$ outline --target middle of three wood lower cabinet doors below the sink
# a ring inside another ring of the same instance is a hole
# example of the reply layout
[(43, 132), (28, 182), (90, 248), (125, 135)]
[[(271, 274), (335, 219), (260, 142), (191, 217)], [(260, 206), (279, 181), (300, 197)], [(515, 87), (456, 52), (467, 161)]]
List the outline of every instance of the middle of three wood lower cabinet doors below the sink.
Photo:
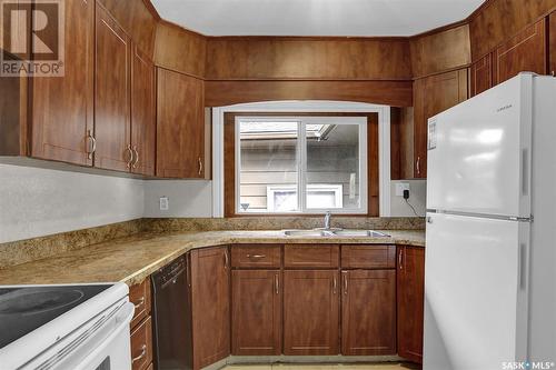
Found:
[(284, 354), (338, 354), (337, 270), (284, 271)]

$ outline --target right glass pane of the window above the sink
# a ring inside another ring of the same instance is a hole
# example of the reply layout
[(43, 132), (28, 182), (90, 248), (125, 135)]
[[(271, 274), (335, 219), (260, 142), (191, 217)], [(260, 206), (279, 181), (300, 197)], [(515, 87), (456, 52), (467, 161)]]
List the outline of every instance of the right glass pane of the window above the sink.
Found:
[(307, 208), (359, 208), (359, 126), (307, 124), (306, 137)]

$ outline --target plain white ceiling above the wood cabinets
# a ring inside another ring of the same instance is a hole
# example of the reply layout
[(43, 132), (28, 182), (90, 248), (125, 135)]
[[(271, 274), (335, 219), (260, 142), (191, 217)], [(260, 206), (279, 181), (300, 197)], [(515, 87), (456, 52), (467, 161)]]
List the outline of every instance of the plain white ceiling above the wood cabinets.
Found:
[(484, 0), (151, 0), (207, 36), (413, 36), (467, 18)]

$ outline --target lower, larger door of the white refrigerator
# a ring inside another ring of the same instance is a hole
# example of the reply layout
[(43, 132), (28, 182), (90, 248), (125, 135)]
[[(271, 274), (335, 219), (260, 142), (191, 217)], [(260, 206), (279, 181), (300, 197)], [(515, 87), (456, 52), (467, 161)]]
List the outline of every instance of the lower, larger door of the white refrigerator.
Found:
[(427, 214), (424, 369), (492, 370), (526, 359), (528, 228)]

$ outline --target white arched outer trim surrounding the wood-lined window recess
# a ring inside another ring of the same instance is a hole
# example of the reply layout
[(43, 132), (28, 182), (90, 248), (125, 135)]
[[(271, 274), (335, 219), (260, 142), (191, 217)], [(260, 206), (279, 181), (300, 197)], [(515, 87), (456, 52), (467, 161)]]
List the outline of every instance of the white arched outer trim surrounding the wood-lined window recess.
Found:
[(379, 209), (390, 216), (390, 107), (345, 101), (271, 101), (212, 108), (212, 217), (224, 217), (224, 114), (228, 112), (378, 113)]

